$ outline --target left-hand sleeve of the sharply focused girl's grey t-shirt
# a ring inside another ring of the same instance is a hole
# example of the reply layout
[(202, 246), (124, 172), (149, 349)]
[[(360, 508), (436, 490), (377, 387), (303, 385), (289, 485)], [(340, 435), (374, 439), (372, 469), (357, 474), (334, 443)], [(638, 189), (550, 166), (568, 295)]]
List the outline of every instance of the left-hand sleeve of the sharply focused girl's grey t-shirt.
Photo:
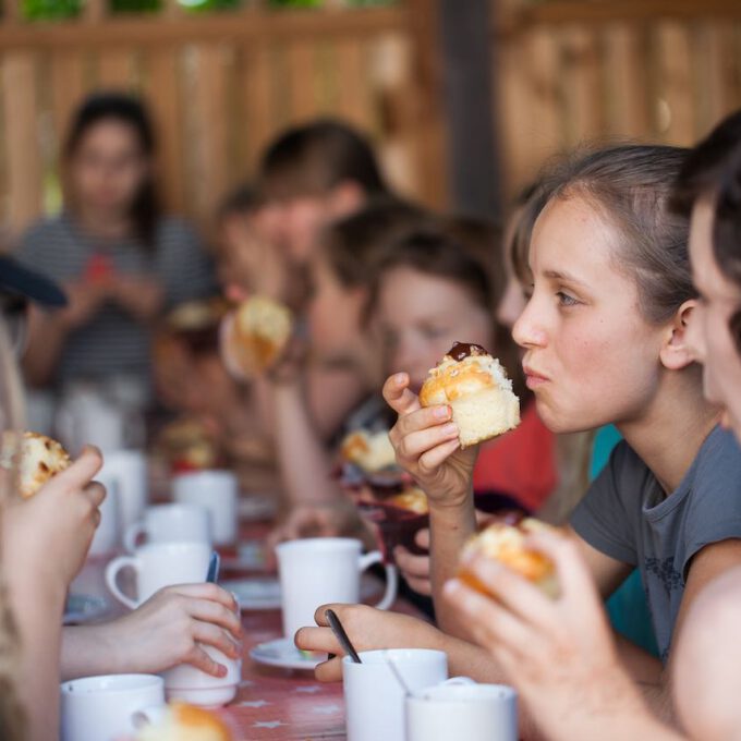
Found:
[[(634, 467), (634, 453), (627, 442), (619, 442), (609, 462), (594, 479), (571, 515), (571, 526), (593, 548), (622, 563), (636, 564), (637, 551), (634, 507), (627, 507), (628, 481)], [(639, 486), (636, 482), (636, 486)], [(640, 499), (632, 491), (632, 500)]]

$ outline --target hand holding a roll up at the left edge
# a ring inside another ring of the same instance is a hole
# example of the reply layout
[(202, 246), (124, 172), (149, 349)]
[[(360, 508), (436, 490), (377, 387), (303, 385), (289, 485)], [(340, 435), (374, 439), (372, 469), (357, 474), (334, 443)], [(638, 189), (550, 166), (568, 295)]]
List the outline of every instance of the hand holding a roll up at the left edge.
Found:
[[(100, 522), (106, 489), (93, 483), (102, 465), (97, 448), (85, 448), (69, 469), (31, 499), (10, 497), (2, 519), (2, 548), (13, 583), (66, 591), (85, 562)], [(17, 576), (17, 579), (16, 579)]]

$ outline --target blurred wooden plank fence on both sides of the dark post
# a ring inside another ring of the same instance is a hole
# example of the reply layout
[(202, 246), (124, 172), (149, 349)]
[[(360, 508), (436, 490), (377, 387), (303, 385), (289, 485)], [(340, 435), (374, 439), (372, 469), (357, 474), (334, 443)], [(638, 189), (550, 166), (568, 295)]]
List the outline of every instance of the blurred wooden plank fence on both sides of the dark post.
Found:
[[(465, 0), (462, 0), (465, 1)], [(378, 144), (391, 181), (446, 201), (435, 0), (398, 7), (0, 22), (0, 223), (59, 199), (60, 137), (81, 97), (144, 93), (160, 127), (168, 205), (202, 223), (289, 123), (347, 118)], [(691, 144), (741, 106), (738, 0), (497, 0), (495, 125), (505, 192), (584, 139)]]

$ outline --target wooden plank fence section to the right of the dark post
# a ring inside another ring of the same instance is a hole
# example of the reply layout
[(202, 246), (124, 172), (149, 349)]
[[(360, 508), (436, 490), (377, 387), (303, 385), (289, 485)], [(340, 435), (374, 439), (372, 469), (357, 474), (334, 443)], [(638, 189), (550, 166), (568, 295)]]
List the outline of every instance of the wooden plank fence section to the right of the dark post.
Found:
[(493, 63), (510, 196), (581, 143), (692, 145), (741, 107), (741, 3), (497, 4)]

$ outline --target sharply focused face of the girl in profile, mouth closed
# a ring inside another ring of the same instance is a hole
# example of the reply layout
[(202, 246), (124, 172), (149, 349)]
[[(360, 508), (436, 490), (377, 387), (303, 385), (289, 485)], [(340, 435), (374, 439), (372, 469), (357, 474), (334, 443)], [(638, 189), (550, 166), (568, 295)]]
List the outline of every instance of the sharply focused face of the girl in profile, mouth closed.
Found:
[(667, 328), (642, 317), (637, 287), (616, 269), (617, 240), (578, 197), (551, 201), (533, 231), (533, 295), (512, 333), (556, 433), (640, 420), (656, 394)]

